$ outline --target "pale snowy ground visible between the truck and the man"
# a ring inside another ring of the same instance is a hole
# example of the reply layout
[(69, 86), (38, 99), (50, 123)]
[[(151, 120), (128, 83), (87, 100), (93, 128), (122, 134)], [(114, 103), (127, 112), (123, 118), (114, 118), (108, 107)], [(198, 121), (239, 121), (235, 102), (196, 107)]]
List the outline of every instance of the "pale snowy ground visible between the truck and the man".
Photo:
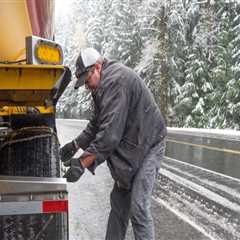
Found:
[[(57, 121), (60, 143), (71, 141), (85, 125), (86, 121)], [(111, 188), (112, 180), (104, 165), (95, 176), (86, 171), (77, 183), (69, 184), (70, 240), (104, 239)]]

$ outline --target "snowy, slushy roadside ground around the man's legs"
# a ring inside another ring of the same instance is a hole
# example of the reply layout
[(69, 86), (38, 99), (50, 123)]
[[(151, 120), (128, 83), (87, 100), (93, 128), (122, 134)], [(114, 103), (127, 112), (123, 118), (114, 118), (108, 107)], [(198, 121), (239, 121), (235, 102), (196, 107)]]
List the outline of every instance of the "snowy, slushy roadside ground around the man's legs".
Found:
[[(84, 121), (58, 120), (59, 140), (77, 136)], [(112, 180), (103, 164), (69, 184), (70, 240), (104, 239)], [(240, 181), (166, 158), (153, 196), (156, 239), (239, 240)], [(129, 227), (127, 240), (134, 239)]]

